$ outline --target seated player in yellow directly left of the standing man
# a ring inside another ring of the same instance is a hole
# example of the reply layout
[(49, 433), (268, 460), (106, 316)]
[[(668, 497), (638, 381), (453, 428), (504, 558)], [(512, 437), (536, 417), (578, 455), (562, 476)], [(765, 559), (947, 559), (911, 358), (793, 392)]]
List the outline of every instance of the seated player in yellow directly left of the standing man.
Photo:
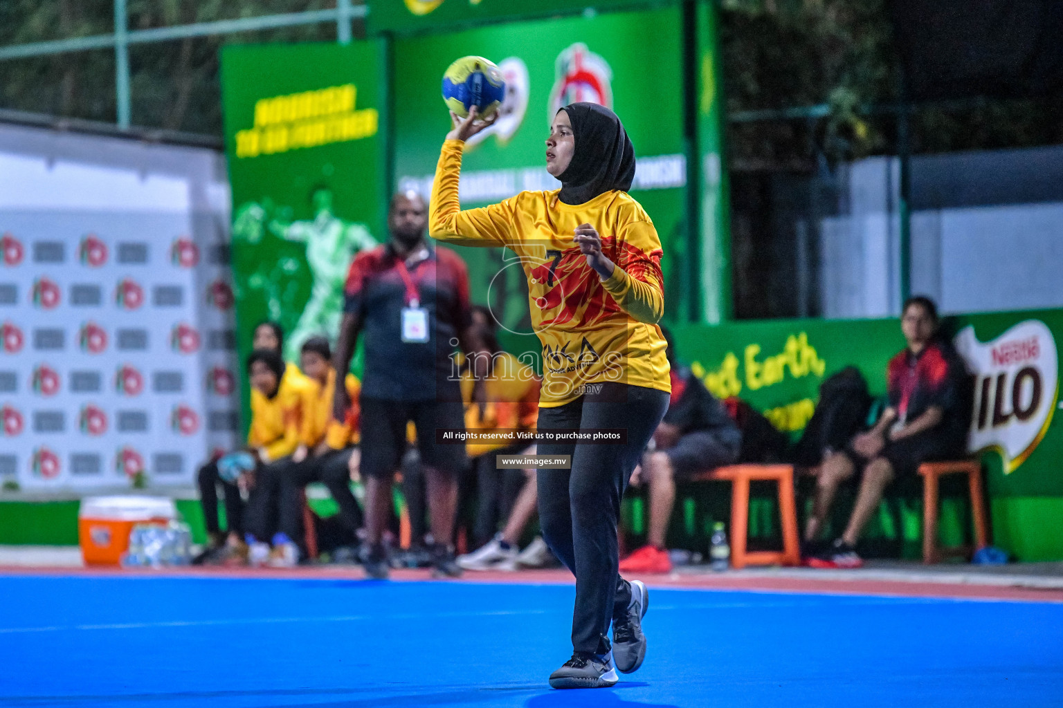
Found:
[(281, 532), (290, 545), (274, 549), (276, 566), (293, 566), (305, 556), (303, 499), (306, 485), (323, 482), (339, 506), (339, 519), (347, 532), (347, 545), (356, 542), (361, 529), (362, 513), (351, 493), (351, 477), (358, 470), (357, 415), (358, 379), (353, 374), (344, 381), (353, 405), (348, 419), (332, 418), (332, 402), (336, 390), (336, 372), (332, 364), (328, 340), (311, 336), (303, 343), (300, 363), (302, 372), (314, 382), (314, 395), (308, 401), (300, 445), (292, 455), (292, 465), (281, 483)]

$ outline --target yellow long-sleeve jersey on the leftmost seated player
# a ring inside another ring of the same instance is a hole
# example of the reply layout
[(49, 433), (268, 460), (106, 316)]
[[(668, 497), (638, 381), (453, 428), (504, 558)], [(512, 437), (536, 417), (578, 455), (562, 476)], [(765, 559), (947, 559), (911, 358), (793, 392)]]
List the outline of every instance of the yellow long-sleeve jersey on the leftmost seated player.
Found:
[(307, 415), (318, 387), (306, 377), (289, 376), (286, 372), (273, 398), (251, 390), (248, 445), (265, 453), (263, 462), (280, 460), (299, 447), (306, 436)]

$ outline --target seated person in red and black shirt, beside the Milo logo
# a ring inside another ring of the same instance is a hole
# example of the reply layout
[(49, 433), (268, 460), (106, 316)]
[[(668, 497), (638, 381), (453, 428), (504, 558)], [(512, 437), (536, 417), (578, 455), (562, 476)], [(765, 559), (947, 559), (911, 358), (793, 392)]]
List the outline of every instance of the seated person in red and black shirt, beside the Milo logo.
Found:
[(812, 516), (805, 526), (813, 542), (830, 512), (838, 486), (860, 476), (856, 505), (844, 533), (809, 558), (816, 568), (859, 568), (855, 546), (882, 499), (887, 485), (914, 476), (919, 464), (960, 457), (966, 447), (967, 416), (962, 402), (966, 372), (960, 358), (938, 334), (938, 308), (927, 297), (905, 303), (900, 329), (908, 346), (890, 360), (890, 404), (875, 426), (844, 450), (829, 453), (816, 477)]

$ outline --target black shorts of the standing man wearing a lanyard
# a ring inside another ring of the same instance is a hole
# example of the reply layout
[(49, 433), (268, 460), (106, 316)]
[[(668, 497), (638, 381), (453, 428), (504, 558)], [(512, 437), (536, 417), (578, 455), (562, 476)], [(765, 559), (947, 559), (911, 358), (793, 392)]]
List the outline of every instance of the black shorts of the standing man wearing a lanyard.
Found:
[(395, 401), (361, 397), (361, 474), (388, 478), (406, 451), (406, 424), (414, 421), (421, 464), (450, 474), (466, 466), (465, 444), (438, 445), (437, 428), (465, 428), (460, 401)]

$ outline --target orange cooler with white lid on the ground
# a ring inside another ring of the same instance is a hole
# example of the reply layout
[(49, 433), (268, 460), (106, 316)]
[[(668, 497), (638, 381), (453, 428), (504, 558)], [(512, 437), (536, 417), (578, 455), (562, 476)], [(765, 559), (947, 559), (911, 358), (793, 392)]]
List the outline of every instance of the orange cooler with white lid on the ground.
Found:
[(118, 566), (137, 523), (167, 523), (178, 518), (172, 499), (162, 497), (85, 497), (78, 512), (78, 538), (85, 565)]

